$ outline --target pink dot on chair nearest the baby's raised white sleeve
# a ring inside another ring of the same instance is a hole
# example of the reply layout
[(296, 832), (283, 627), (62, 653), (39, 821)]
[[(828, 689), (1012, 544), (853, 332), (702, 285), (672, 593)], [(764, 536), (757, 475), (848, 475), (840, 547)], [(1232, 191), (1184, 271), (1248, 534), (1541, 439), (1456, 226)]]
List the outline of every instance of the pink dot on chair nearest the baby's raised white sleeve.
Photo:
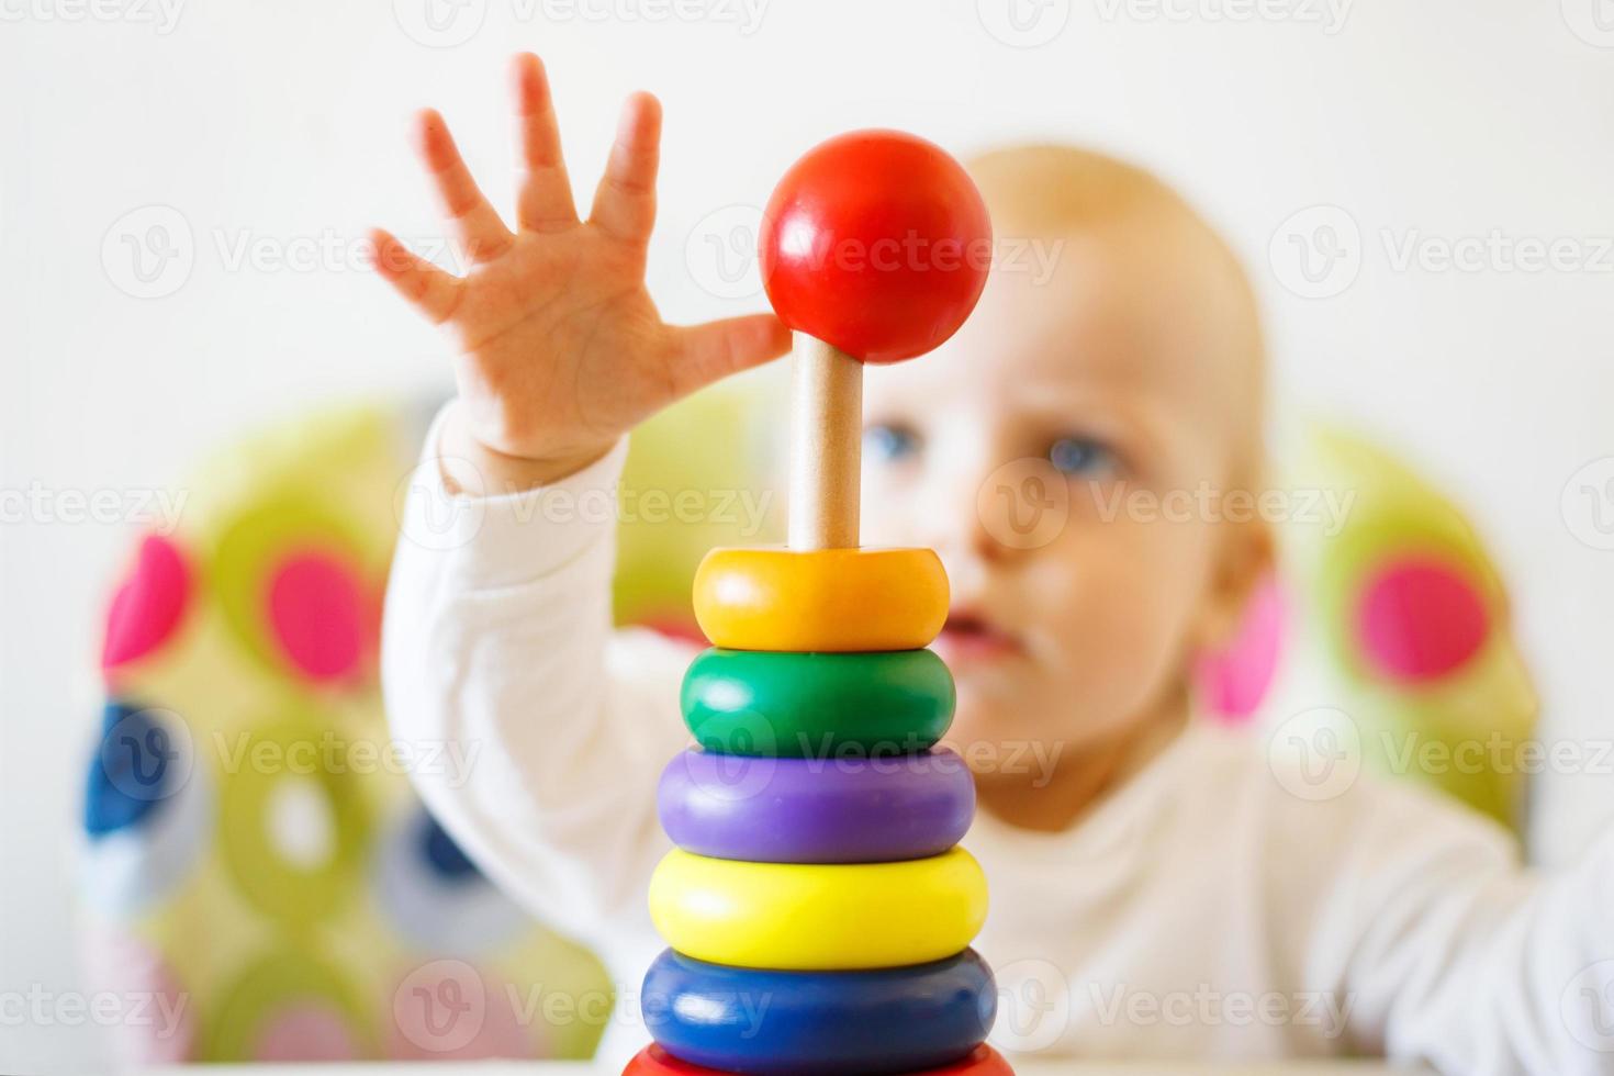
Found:
[(270, 624), (281, 652), (315, 681), (344, 679), (365, 657), (368, 618), (353, 571), (328, 553), (282, 560), (270, 579)]

